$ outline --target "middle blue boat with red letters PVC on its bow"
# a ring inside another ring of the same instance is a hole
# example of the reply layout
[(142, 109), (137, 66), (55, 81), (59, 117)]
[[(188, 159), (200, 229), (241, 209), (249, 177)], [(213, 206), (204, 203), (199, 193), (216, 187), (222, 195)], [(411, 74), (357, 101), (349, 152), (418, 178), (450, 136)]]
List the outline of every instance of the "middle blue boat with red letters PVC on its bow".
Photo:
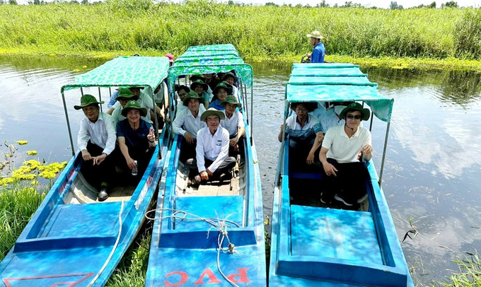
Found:
[[(146, 276), (149, 287), (266, 286), (262, 190), (252, 125), (247, 117), (252, 112), (253, 70), (241, 58), (231, 59), (230, 52), (224, 59), (217, 59), (223, 57), (214, 48), (202, 49), (198, 57), (190, 57), (197, 53), (192, 49), (185, 53), (187, 57), (174, 61), (168, 75), (170, 102), (175, 106), (173, 86), (179, 76), (235, 70), (242, 82), (239, 95), (246, 129), (245, 164), (230, 182), (191, 187), (188, 170), (179, 161), (182, 140), (175, 136), (167, 176), (161, 180), (164, 193), (159, 192), (157, 199)], [(208, 55), (209, 50), (215, 52), (213, 56)]]

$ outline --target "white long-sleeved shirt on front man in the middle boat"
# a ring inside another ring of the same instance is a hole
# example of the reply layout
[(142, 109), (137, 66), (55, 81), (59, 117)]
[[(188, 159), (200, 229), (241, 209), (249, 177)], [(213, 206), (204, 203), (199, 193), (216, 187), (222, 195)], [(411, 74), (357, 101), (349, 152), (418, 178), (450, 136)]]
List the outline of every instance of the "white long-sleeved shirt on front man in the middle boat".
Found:
[(214, 134), (211, 134), (209, 127), (204, 127), (197, 132), (197, 146), (195, 147), (197, 168), (199, 172), (206, 170), (205, 160), (214, 160), (208, 168), (214, 172), (228, 156), (228, 131), (219, 126)]

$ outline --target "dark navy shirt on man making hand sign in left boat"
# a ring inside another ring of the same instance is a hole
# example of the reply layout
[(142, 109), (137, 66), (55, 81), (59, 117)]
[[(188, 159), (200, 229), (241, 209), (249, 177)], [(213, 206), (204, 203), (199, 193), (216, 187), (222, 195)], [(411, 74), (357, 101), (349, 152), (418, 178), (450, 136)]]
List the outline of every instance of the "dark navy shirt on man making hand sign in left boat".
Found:
[(149, 134), (151, 124), (140, 119), (139, 129), (132, 129), (129, 124), (129, 119), (124, 119), (117, 123), (117, 136), (124, 136), (125, 144), (128, 148), (143, 148), (144, 150), (149, 148), (149, 139), (147, 135)]

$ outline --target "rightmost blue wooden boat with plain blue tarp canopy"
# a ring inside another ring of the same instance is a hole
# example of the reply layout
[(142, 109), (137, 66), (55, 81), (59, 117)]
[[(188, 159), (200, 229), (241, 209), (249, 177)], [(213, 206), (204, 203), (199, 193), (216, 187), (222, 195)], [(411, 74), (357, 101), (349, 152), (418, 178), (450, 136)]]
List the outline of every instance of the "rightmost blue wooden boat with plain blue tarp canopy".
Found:
[[(369, 105), (373, 115), (387, 122), (384, 163), (393, 99), (380, 95), (359, 66), (294, 64), (285, 100), (285, 117), (290, 102)], [(367, 168), (368, 211), (323, 207), (320, 172), (289, 170), (289, 144), (283, 141), (274, 187), (270, 286), (414, 286), (380, 186), (382, 172), (378, 177), (372, 160)], [(293, 203), (296, 194), (310, 188), (314, 204)]]

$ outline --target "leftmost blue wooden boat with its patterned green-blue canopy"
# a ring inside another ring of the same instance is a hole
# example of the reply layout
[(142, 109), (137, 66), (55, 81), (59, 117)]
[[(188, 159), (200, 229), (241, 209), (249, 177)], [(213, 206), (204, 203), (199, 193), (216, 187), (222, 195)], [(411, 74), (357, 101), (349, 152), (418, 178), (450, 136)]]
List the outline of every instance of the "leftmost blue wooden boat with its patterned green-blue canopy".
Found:
[[(118, 57), (63, 86), (72, 151), (66, 90), (98, 87), (100, 100), (100, 87), (152, 90), (166, 78), (168, 65), (166, 57)], [(81, 153), (74, 154), (0, 263), (3, 286), (104, 286), (138, 233), (156, 192), (168, 152), (168, 129), (156, 136), (159, 144), (139, 185), (117, 187), (101, 203), (79, 172)]]

